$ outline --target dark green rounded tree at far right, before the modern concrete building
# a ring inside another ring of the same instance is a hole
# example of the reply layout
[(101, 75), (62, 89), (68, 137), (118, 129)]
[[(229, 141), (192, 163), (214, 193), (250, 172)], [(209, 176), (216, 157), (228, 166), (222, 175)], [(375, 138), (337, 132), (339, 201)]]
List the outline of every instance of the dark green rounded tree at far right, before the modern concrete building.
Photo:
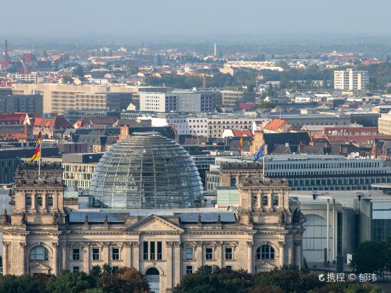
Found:
[(387, 266), (385, 241), (364, 241), (352, 255), (351, 269), (355, 273), (383, 273)]

